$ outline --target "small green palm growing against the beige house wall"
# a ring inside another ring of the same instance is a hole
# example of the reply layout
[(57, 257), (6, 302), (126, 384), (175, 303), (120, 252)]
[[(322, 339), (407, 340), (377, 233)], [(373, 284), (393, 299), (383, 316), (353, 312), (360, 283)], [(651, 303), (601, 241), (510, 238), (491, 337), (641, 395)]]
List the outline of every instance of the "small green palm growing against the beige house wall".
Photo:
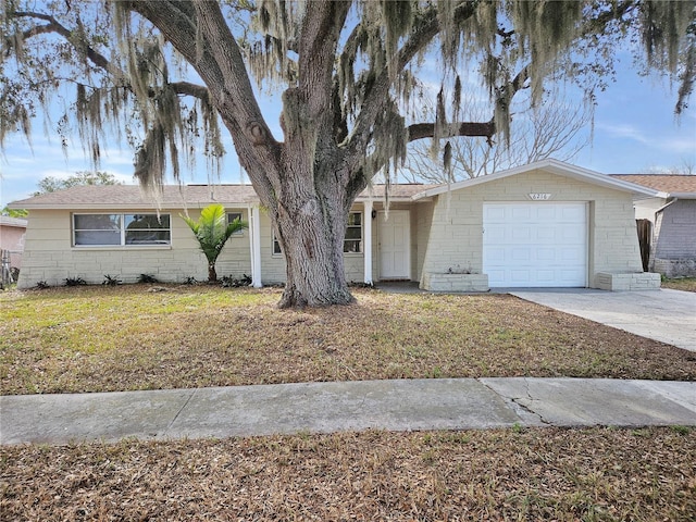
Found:
[(188, 215), (182, 215), (181, 217), (194, 231), (200, 249), (208, 259), (208, 281), (217, 281), (215, 261), (217, 261), (217, 257), (227, 239), (235, 232), (247, 228), (247, 222), (237, 217), (227, 224), (227, 213), (220, 203), (210, 204), (201, 210), (198, 221), (191, 220)]

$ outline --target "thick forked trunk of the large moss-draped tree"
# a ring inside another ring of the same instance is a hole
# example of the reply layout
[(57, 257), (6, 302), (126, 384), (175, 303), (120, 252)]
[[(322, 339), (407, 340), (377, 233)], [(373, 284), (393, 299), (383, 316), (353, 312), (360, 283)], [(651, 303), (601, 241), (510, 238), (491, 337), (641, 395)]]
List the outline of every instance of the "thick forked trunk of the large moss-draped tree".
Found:
[[(229, 129), (287, 261), (282, 308), (353, 301), (343, 249), (348, 212), (362, 188), (350, 170), (359, 167), (357, 158), (364, 148), (339, 150), (332, 105), (336, 48), (350, 4), (316, 2), (307, 8), (297, 42), (298, 79), (283, 95), (284, 141), (276, 141), (264, 122), (217, 2), (176, 2), (175, 9), (161, 9), (157, 1), (133, 4), (194, 64)], [(181, 24), (172, 23), (174, 15), (181, 15)], [(190, 20), (196, 20), (197, 32)], [(364, 133), (370, 132), (368, 126)]]

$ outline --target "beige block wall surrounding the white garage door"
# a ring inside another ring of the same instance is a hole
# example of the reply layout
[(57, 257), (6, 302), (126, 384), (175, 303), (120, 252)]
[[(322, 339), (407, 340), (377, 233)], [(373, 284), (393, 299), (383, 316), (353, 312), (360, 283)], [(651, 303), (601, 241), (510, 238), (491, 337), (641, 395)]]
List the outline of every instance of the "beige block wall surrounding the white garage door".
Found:
[(481, 273), (483, 203), (531, 201), (533, 192), (551, 194), (550, 202), (588, 203), (588, 286), (598, 272), (643, 271), (631, 194), (532, 171), (437, 196), (422, 272), (459, 265)]

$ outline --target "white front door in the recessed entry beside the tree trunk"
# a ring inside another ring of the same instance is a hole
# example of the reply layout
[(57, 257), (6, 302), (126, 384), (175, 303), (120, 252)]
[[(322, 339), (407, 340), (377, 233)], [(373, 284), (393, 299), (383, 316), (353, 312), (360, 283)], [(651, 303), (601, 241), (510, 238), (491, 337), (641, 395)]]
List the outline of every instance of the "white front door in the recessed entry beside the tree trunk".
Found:
[(411, 278), (411, 215), (408, 210), (380, 212), (380, 278)]

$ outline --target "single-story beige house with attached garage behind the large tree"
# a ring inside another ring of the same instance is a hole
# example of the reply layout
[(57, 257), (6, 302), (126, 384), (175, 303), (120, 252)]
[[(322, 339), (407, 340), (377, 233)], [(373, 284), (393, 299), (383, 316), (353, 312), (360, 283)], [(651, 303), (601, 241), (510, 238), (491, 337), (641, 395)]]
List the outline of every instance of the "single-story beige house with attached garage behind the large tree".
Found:
[[(657, 191), (556, 160), (449, 186), (394, 185), (361, 194), (345, 241), (348, 281), (420, 282), (430, 290), (492, 287), (657, 288), (644, 273), (633, 200)], [(249, 228), (232, 237), (221, 275), (282, 283), (285, 261), (249, 185), (166, 186), (159, 202), (137, 186), (85, 186), (14, 202), (29, 210), (18, 286), (203, 281), (207, 263), (181, 214), (223, 203)], [(158, 210), (159, 209), (159, 210)]]

